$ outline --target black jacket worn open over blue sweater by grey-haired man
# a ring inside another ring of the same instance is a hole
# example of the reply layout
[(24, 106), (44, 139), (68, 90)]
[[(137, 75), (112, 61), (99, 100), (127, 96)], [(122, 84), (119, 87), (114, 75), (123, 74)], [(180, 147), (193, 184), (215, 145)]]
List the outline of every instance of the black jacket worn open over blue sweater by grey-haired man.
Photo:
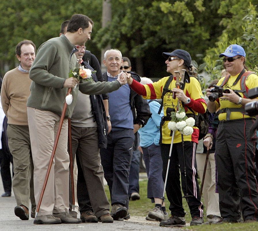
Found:
[[(138, 82), (141, 81), (141, 78), (139, 77), (138, 74), (131, 71), (128, 71), (127, 73), (130, 73), (132, 78), (135, 79), (136, 81)], [(103, 79), (107, 81), (107, 72), (103, 73)], [(147, 124), (147, 121), (151, 117), (149, 104), (147, 103), (146, 100), (143, 99), (142, 96), (140, 96), (134, 90), (132, 90), (132, 88), (130, 88), (130, 104), (131, 104), (134, 124), (142, 124), (143, 126)], [(134, 150), (137, 150), (138, 148), (137, 132), (134, 135), (135, 135)]]

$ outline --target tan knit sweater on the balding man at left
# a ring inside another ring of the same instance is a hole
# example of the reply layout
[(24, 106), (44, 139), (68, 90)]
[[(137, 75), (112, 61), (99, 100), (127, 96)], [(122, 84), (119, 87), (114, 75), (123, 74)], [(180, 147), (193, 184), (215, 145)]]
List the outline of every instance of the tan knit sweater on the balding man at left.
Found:
[(18, 67), (5, 74), (1, 88), (1, 103), (8, 124), (28, 126), (26, 104), (30, 95), (30, 85), (29, 72), (22, 72)]

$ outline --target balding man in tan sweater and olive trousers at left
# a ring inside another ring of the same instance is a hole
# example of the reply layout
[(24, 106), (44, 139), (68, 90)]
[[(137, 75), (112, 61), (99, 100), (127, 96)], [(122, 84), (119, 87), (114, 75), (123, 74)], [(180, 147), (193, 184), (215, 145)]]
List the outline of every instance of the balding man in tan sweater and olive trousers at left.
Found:
[(29, 70), (35, 59), (36, 46), (31, 40), (23, 40), (16, 46), (16, 57), (20, 65), (8, 71), (1, 88), (1, 103), (8, 118), (8, 145), (13, 156), (13, 191), (17, 206), (14, 213), (22, 220), (29, 219), (29, 200), (31, 217), (35, 217), (35, 198), (33, 188), (33, 161), (27, 117), (27, 99), (30, 94), (31, 79)]

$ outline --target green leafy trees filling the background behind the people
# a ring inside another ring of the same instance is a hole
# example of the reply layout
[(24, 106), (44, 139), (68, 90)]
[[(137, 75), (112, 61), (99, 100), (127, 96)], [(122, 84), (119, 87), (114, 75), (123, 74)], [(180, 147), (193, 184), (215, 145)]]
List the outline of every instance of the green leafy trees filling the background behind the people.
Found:
[[(206, 62), (210, 79), (218, 78), (222, 69), (218, 54), (233, 42), (244, 46), (250, 68), (257, 64), (253, 6), (257, 0), (110, 0), (112, 20), (105, 28), (101, 28), (102, 1), (1, 1), (1, 74), (17, 66), (18, 42), (30, 39), (39, 47), (59, 36), (60, 24), (74, 13), (94, 21), (92, 40), (86, 46), (99, 61), (101, 49), (110, 44), (132, 60), (133, 70), (141, 76), (167, 76), (162, 52), (185, 49), (197, 64)], [(202, 79), (203, 87), (207, 79)]]

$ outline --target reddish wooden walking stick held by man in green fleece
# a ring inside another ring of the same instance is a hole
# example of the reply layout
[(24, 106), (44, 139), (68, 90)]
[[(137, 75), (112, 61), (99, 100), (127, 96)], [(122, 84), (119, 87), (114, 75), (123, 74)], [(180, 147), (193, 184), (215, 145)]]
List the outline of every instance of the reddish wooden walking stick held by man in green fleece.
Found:
[[(68, 89), (67, 96), (71, 93), (71, 91), (72, 91), (72, 88), (70, 87)], [(43, 187), (42, 187), (42, 190), (41, 190), (41, 194), (40, 194), (40, 197), (39, 197), (39, 202), (37, 204), (37, 209), (36, 209), (35, 217), (37, 217), (37, 215), (38, 215), (39, 208), (40, 208), (40, 205), (41, 205), (41, 202), (42, 202), (42, 198), (43, 198), (43, 195), (44, 195), (44, 192), (45, 192), (45, 189), (46, 189), (46, 185), (47, 185), (47, 182), (48, 182), (48, 177), (49, 177), (49, 174), (50, 174), (50, 169), (51, 169), (51, 166), (52, 166), (52, 163), (53, 163), (53, 159), (54, 159), (54, 156), (55, 156), (55, 153), (56, 153), (58, 139), (60, 137), (62, 125), (63, 125), (63, 122), (64, 122), (64, 116), (65, 116), (66, 109), (67, 109), (67, 103), (65, 101), (64, 102), (64, 107), (63, 107), (63, 110), (62, 110), (62, 114), (61, 114), (61, 117), (60, 117), (59, 126), (58, 126), (57, 133), (56, 133), (56, 139), (55, 139), (55, 142), (54, 142), (53, 151), (52, 151), (52, 154), (51, 154), (51, 157), (50, 157), (50, 161), (49, 161), (49, 164), (48, 164), (48, 170), (47, 170), (47, 173), (46, 173), (46, 176), (45, 176), (45, 180), (44, 180), (44, 184), (43, 184)]]

